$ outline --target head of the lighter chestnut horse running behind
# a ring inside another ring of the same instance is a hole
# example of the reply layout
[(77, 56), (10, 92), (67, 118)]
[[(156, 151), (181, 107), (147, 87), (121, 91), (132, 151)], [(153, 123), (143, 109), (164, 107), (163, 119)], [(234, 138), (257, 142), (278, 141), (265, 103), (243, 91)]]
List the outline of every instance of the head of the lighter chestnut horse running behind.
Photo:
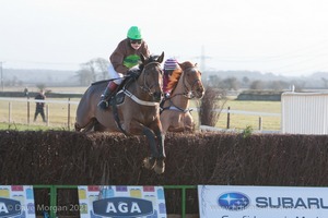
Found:
[(204, 88), (201, 82), (201, 72), (197, 69), (197, 64), (186, 61), (179, 65), (184, 72), (184, 86), (188, 93), (191, 93), (191, 98), (202, 98)]

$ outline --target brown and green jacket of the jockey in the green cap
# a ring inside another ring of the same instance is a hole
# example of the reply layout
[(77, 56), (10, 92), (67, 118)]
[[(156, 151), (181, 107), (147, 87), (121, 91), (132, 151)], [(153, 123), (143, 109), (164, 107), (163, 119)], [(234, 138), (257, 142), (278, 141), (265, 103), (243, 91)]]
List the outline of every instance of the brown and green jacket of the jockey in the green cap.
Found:
[(130, 39), (126, 38), (118, 44), (117, 48), (109, 57), (109, 61), (118, 73), (126, 74), (130, 68), (140, 62), (141, 53), (145, 58), (150, 57), (150, 51), (145, 41), (142, 40), (141, 47), (138, 50), (134, 50), (130, 45)]

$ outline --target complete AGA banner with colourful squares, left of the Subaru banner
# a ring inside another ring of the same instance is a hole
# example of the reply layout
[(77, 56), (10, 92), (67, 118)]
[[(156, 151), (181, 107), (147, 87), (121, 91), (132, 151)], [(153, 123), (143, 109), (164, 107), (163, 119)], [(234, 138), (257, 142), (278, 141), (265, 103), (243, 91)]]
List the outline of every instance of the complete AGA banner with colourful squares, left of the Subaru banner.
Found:
[(79, 186), (81, 218), (166, 218), (162, 186)]

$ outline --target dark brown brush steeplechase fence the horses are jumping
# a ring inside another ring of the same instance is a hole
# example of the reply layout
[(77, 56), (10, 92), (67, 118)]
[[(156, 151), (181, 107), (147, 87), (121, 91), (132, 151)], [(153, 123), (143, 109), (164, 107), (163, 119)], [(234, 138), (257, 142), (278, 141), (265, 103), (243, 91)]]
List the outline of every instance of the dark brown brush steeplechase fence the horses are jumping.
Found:
[(201, 213), (196, 185), (328, 184), (327, 135), (169, 133), (163, 174), (142, 167), (142, 136), (0, 131), (0, 138), (1, 184), (43, 184), (35, 186), (37, 211), (51, 218), (79, 217), (77, 185), (162, 185), (167, 214), (186, 216)]

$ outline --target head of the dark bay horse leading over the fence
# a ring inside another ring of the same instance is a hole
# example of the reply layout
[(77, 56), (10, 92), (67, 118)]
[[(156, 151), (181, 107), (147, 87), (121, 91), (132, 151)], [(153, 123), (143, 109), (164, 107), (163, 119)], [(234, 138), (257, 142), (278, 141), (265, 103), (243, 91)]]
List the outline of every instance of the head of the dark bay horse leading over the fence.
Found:
[(151, 56), (148, 59), (141, 55), (140, 59), (142, 63), (139, 66), (141, 74), (138, 83), (142, 90), (153, 97), (154, 101), (160, 102), (163, 96), (163, 71), (161, 63), (164, 60), (164, 52), (161, 56)]

